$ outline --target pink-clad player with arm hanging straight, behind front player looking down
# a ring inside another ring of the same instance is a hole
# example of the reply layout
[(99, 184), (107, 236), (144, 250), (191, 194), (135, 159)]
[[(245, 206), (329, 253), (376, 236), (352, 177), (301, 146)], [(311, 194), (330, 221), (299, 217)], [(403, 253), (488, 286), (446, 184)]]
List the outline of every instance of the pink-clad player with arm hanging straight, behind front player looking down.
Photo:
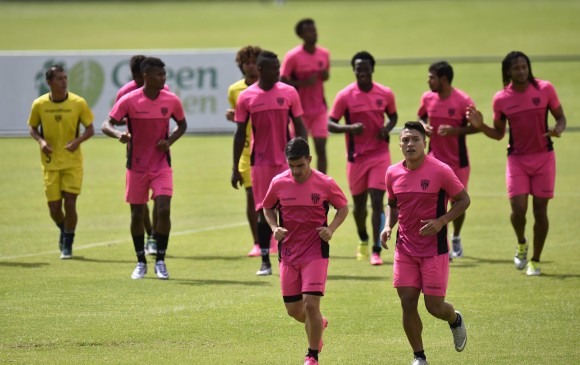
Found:
[(284, 146), (290, 140), (289, 124), (292, 120), (297, 136), (306, 137), (302, 122), (302, 106), (296, 89), (278, 82), (280, 61), (275, 53), (262, 51), (256, 59), (258, 82), (248, 86), (238, 97), (234, 121), (234, 164), (231, 184), (237, 189), (243, 177), (239, 170), (240, 157), (246, 141), (246, 130), (252, 120), (250, 164), (255, 210), (258, 212), (256, 229), (260, 243), (262, 265), (258, 276), (272, 275), (269, 248), (272, 230), (264, 218), (262, 200), (274, 178), (286, 169)]

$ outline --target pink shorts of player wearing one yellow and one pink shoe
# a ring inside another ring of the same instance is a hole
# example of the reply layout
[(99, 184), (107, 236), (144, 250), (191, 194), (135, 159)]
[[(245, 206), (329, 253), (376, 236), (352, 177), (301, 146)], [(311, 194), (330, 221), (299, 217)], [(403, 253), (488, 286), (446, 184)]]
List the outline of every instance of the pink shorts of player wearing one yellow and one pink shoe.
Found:
[(368, 161), (348, 162), (346, 175), (352, 195), (359, 195), (368, 189), (387, 190), (385, 174), (391, 164), (390, 156)]

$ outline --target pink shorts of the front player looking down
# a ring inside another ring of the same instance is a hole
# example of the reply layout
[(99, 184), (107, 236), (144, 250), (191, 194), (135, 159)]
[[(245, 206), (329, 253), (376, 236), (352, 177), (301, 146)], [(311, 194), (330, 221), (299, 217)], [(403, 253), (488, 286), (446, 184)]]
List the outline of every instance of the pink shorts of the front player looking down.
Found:
[(328, 276), (328, 259), (312, 260), (298, 265), (280, 261), (280, 287), (283, 297), (302, 297), (303, 293), (324, 295)]

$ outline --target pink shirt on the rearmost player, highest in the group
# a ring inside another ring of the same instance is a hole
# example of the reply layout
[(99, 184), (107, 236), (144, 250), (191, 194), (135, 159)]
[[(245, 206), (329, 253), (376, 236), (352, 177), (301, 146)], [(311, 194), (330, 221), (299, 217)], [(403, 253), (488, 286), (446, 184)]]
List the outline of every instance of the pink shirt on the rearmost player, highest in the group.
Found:
[(330, 53), (326, 48), (316, 46), (314, 53), (308, 53), (303, 45), (299, 45), (286, 53), (280, 68), (280, 76), (293, 80), (306, 80), (313, 75), (319, 75), (314, 84), (297, 87), (304, 114), (326, 113), (324, 80), (320, 74), (329, 69)]

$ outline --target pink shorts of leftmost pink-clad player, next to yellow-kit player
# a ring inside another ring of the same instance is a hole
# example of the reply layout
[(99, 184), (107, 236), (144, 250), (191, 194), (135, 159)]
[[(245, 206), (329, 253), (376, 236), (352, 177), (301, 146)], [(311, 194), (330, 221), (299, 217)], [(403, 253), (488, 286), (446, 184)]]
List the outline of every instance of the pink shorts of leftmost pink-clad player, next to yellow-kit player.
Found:
[(149, 190), (151, 199), (160, 195), (173, 195), (173, 170), (166, 168), (155, 172), (127, 170), (125, 201), (129, 204), (147, 204)]

